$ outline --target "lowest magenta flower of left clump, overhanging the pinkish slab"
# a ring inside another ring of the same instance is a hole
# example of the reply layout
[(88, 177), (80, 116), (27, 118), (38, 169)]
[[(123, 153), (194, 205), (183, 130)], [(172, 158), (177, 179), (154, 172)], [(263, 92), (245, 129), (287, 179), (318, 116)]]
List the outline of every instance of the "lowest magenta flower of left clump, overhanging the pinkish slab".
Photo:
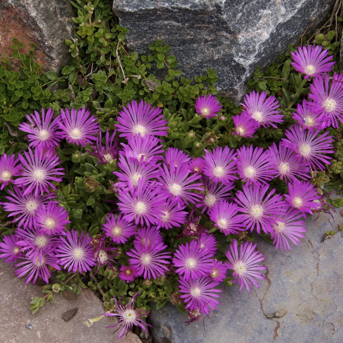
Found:
[(32, 279), (32, 283), (34, 284), (37, 277), (41, 277), (46, 283), (49, 283), (48, 279), (51, 276), (48, 268), (49, 266), (61, 270), (56, 257), (44, 253), (40, 261), (38, 260), (38, 257), (35, 258), (32, 255), (26, 257), (25, 261), (15, 264), (13, 268), (18, 268), (14, 271), (14, 274), (17, 275), (18, 278), (27, 274), (25, 282), (25, 285), (27, 285)]

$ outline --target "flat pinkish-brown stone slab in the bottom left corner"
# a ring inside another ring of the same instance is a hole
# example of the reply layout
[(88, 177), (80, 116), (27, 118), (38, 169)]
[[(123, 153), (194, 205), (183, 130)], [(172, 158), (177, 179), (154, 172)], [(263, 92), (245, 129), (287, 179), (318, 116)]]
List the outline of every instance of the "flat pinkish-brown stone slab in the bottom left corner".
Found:
[[(113, 333), (115, 317), (105, 317), (93, 323), (91, 327), (82, 324), (105, 312), (101, 300), (90, 288), (81, 289), (77, 300), (54, 294), (56, 304), (46, 301), (36, 314), (29, 309), (31, 297), (42, 297), (40, 286), (28, 284), (16, 279), (13, 268), (3, 260), (0, 262), (0, 299), (1, 299), (1, 335), (0, 343), (142, 343), (131, 332), (117, 341), (121, 330)], [(65, 322), (64, 312), (78, 308), (76, 315)], [(110, 318), (114, 318), (111, 321)], [(31, 327), (28, 329), (26, 326)]]

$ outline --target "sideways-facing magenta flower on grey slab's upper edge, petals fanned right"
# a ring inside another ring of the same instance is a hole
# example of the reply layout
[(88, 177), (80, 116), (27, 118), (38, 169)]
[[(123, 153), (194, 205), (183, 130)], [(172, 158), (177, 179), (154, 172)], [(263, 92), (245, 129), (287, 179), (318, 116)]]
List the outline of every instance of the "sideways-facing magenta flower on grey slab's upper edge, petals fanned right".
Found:
[(276, 249), (280, 247), (280, 250), (282, 248), (291, 250), (287, 238), (295, 245), (300, 242), (298, 237), (305, 238), (301, 234), (301, 232), (306, 232), (305, 221), (297, 220), (302, 216), (300, 211), (292, 207), (289, 207), (284, 214), (275, 215), (275, 224), (273, 224), (273, 233), (270, 238), (274, 239), (273, 244)]

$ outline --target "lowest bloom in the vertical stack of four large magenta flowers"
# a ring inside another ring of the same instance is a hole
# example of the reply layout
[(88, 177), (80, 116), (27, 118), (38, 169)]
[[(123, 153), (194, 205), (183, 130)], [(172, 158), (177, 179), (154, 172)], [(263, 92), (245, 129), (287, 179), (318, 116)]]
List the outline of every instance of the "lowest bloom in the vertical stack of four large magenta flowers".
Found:
[(120, 189), (118, 188), (118, 202), (123, 219), (136, 225), (142, 226), (155, 225), (160, 216), (157, 207), (164, 202), (164, 196), (161, 194), (161, 187), (156, 184), (147, 185), (144, 179), (139, 178), (137, 188)]

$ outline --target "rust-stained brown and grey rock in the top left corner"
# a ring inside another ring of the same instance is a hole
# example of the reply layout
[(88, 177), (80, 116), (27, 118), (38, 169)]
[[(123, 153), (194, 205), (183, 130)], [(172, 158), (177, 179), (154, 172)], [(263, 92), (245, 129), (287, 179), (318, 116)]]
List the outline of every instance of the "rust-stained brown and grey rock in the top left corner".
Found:
[(62, 64), (70, 62), (64, 40), (74, 36), (73, 16), (68, 0), (1, 0), (0, 59), (10, 57), (13, 66), (11, 45), (12, 38), (17, 38), (24, 43), (22, 52), (26, 54), (31, 43), (36, 45), (35, 60), (44, 71), (60, 71)]

